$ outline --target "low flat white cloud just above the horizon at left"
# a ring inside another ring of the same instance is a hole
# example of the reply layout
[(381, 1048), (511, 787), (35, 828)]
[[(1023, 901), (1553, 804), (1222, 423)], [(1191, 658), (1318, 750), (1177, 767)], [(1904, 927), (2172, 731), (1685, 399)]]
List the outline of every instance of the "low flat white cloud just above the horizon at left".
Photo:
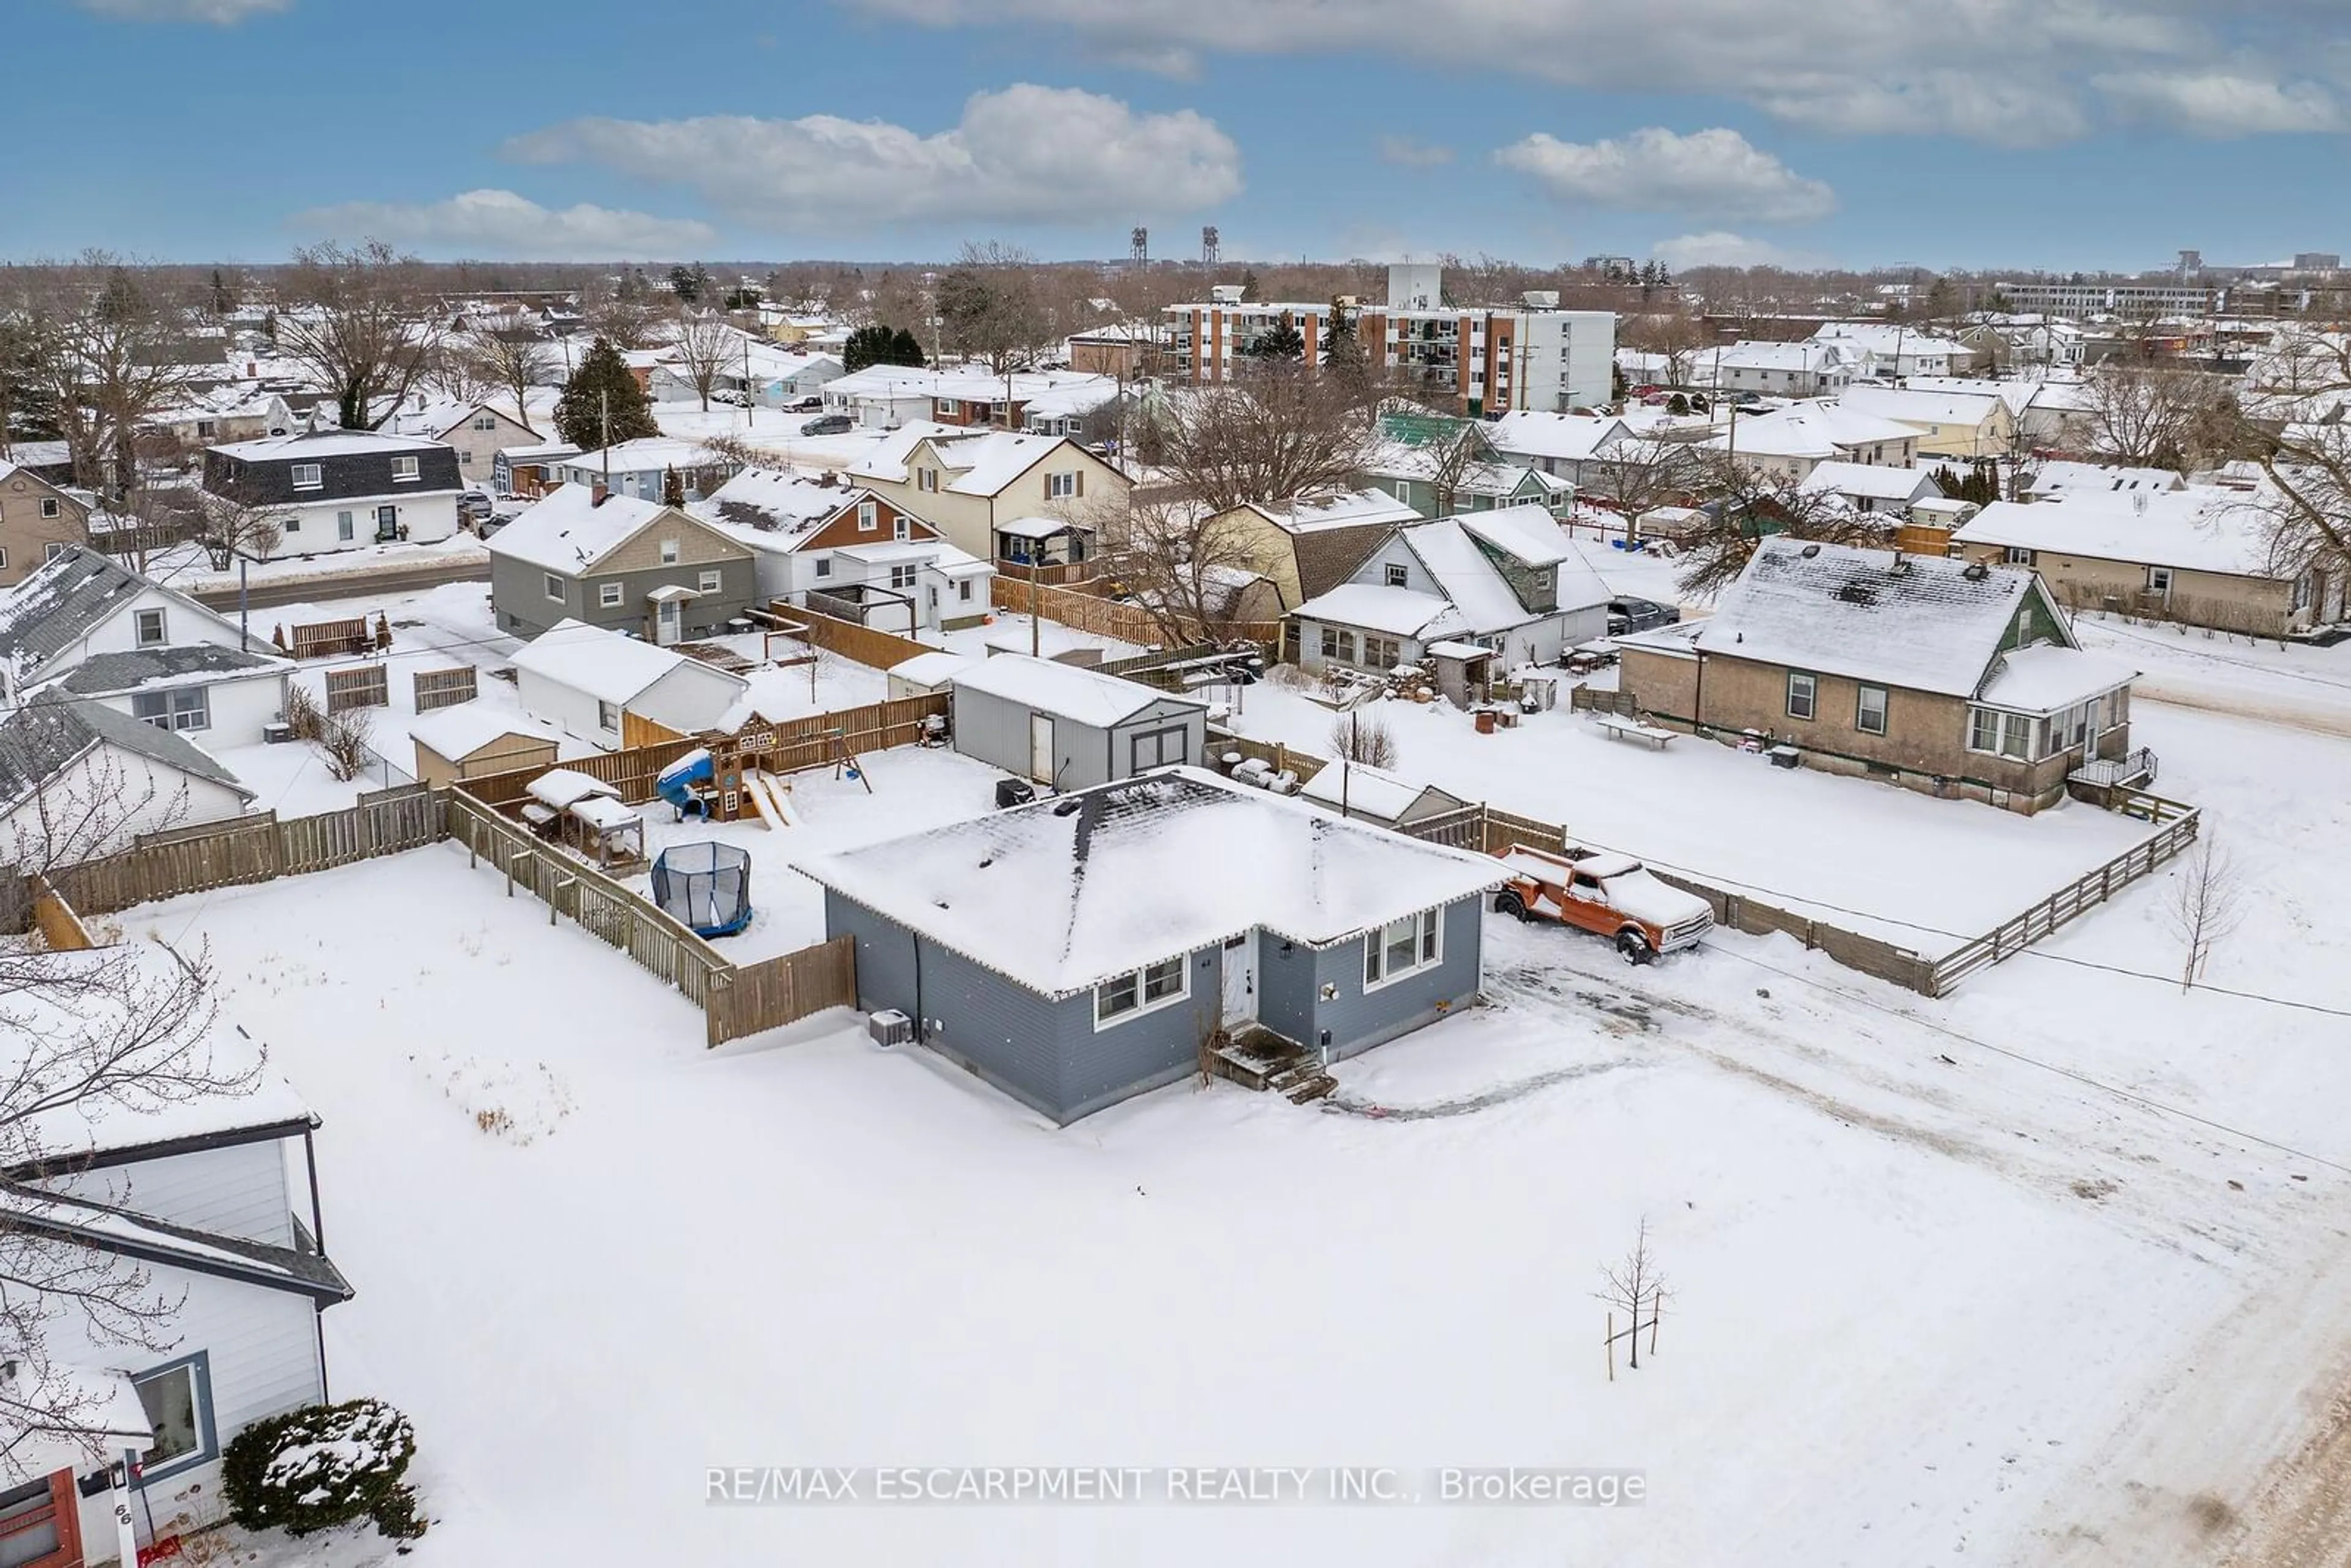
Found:
[(343, 202), (294, 214), (289, 228), (339, 240), (388, 240), (447, 256), (517, 261), (670, 261), (708, 252), (717, 230), (611, 207), (541, 207), (513, 190), (447, 202)]

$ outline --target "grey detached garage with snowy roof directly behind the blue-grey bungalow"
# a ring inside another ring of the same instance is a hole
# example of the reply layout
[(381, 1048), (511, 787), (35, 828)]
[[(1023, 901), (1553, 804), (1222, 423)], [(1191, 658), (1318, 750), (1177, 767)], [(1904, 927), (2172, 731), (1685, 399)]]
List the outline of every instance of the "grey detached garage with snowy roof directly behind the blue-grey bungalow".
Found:
[(1056, 790), (1199, 762), (1208, 708), (1117, 675), (999, 654), (955, 675), (955, 750)]

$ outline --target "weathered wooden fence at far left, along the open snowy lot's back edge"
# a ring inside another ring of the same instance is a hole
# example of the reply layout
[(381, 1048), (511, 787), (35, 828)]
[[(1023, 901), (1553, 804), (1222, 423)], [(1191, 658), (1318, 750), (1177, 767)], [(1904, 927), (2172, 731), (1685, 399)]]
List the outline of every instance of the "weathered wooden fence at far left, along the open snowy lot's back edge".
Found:
[(449, 837), (447, 795), (411, 785), (362, 795), (355, 806), (280, 820), (273, 811), (226, 823), (148, 832), (129, 849), (49, 875), (80, 914), (115, 914), (139, 903), (223, 886), (324, 872)]

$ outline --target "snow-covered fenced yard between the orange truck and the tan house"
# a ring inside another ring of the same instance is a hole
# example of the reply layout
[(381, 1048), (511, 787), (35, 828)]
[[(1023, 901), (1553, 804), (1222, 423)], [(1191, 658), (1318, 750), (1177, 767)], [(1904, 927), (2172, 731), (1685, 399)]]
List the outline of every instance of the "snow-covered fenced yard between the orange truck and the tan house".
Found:
[[(1225, 698), (1223, 691), (1201, 696)], [(1333, 757), (1333, 712), (1262, 682), (1237, 693), (1232, 729)], [(1864, 778), (1775, 769), (1761, 755), (1683, 736), (1667, 750), (1610, 741), (1559, 708), (1474, 733), (1448, 703), (1361, 710), (1396, 736), (1396, 773), (1441, 785), (1681, 870), (1714, 886), (1940, 954), (1982, 936), (2146, 835), (2067, 804), (2024, 818)]]

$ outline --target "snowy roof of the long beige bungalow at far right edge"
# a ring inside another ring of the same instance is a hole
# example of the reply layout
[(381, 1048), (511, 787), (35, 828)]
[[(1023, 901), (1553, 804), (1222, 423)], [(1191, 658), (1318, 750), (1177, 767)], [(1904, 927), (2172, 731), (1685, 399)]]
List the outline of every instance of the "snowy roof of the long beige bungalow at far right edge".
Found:
[(1996, 501), (1951, 534), (1963, 545), (2012, 545), (2135, 567), (2271, 576), (2269, 512), (2236, 491), (2071, 494)]

